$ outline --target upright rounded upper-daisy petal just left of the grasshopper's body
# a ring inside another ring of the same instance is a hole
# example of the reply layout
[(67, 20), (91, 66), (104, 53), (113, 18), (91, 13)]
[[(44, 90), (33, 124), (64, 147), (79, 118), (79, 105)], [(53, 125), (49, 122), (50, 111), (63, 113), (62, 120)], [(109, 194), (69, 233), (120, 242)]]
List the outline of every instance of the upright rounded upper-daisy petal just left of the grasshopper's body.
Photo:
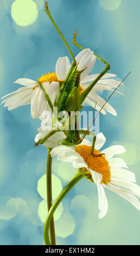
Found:
[(70, 62), (68, 57), (59, 58), (56, 62), (56, 75), (60, 81), (64, 81), (70, 69)]

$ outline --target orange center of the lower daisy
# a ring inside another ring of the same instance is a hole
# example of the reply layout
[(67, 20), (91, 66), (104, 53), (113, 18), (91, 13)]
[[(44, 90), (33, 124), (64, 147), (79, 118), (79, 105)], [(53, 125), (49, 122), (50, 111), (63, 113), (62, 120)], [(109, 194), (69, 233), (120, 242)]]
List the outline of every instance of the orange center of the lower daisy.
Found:
[[(78, 145), (78, 146), (75, 146), (75, 148), (77, 152), (80, 154), (80, 156), (84, 158), (84, 161), (87, 164), (88, 168), (103, 175), (101, 183), (109, 183), (111, 178), (110, 166), (109, 166), (109, 162), (105, 159), (105, 156), (104, 155), (92, 156), (91, 155), (92, 147), (89, 147), (87, 145)], [(93, 154), (99, 155), (100, 151), (97, 149), (94, 149)]]

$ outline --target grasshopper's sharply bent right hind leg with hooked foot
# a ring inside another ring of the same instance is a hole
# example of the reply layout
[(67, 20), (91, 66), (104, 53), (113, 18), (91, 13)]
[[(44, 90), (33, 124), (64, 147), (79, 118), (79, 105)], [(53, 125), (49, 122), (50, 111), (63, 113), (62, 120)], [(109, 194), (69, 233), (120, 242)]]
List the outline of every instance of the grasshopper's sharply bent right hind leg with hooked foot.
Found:
[[(79, 45), (77, 42), (76, 42), (76, 38), (77, 38), (77, 33), (78, 31), (76, 31), (76, 33), (74, 33), (74, 36), (73, 36), (73, 44), (79, 48), (81, 48), (82, 50), (84, 50), (85, 48), (82, 47), (81, 45)], [(94, 53), (93, 53), (94, 54)], [(106, 66), (105, 66), (105, 69), (99, 74), (99, 76), (90, 84), (90, 86), (88, 86), (84, 92), (81, 93), (80, 95), (80, 104), (86, 99), (88, 93), (91, 92), (92, 88), (94, 87), (94, 85), (100, 80), (101, 77), (103, 77), (107, 71), (110, 70), (110, 64), (106, 62), (106, 60), (100, 58), (97, 54), (94, 54), (94, 56), (96, 56), (101, 62), (103, 62)]]

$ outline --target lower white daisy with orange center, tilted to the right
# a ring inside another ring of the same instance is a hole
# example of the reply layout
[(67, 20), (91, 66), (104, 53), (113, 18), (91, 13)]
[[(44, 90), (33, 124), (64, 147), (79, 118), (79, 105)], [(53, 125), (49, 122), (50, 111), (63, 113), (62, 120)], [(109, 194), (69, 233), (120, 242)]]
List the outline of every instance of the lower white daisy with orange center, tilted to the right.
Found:
[(61, 161), (72, 162), (75, 168), (80, 168), (80, 172), (97, 185), (99, 218), (103, 218), (108, 209), (104, 187), (119, 194), (140, 210), (140, 202), (137, 199), (140, 197), (140, 187), (133, 183), (136, 182), (135, 174), (126, 170), (128, 166), (122, 159), (113, 157), (124, 153), (124, 147), (114, 145), (100, 152), (105, 141), (103, 133), (99, 133), (94, 145), (94, 155), (105, 154), (101, 156), (91, 155), (92, 144), (86, 139), (75, 147), (60, 145), (50, 154), (58, 156)]

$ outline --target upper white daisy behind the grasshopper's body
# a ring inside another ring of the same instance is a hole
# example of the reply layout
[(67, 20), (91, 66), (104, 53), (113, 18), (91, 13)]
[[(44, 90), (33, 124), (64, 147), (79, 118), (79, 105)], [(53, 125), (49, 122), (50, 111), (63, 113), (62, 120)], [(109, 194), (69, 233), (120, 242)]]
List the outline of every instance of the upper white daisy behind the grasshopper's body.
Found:
[[(98, 74), (88, 75), (92, 70), (94, 64), (96, 63), (96, 57), (93, 55), (93, 51), (87, 48), (85, 50), (82, 50), (77, 55), (77, 57), (75, 57), (75, 59), (77, 60), (77, 63), (79, 63), (78, 69), (85, 69), (81, 73), (80, 89), (82, 92), (82, 90), (85, 89), (88, 84), (90, 84), (87, 82), (93, 81), (98, 76)], [(65, 80), (70, 66), (71, 64), (68, 57), (59, 58), (56, 62), (55, 72), (42, 75), (42, 77), (39, 78), (39, 81), (42, 83), (44, 89), (49, 95), (53, 105), (56, 95), (58, 94), (60, 89), (60, 83)], [(86, 97), (85, 102), (92, 107), (95, 107), (96, 105), (96, 109), (99, 110), (103, 106), (105, 100), (94, 94), (94, 92), (97, 92), (99, 90), (112, 90), (112, 88), (116, 88), (119, 84), (118, 81), (113, 79), (106, 79), (115, 76), (116, 75), (113, 74), (104, 75), (104, 79), (102, 78), (96, 84), (96, 86), (94, 86), (91, 93)], [(12, 110), (19, 106), (31, 104), (31, 116), (33, 118), (40, 118), (43, 111), (51, 112), (44, 93), (36, 81), (30, 80), (28, 78), (20, 78), (15, 81), (15, 83), (22, 84), (22, 86), (24, 87), (21, 87), (15, 92), (12, 92), (2, 97), (2, 99), (6, 97), (2, 101), (2, 103), (5, 103), (4, 107), (8, 107), (9, 110)], [(97, 104), (95, 102), (97, 102)], [(116, 115), (116, 111), (109, 105), (109, 103), (106, 103), (101, 113), (106, 114), (106, 111), (113, 115)]]

